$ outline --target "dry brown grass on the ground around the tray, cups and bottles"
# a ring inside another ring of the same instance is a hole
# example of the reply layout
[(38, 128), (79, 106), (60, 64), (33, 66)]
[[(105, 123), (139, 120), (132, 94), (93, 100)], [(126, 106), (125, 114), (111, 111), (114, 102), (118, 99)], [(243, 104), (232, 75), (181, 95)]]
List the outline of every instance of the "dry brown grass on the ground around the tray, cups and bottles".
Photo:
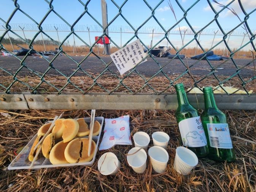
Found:
[[(140, 86), (138, 77), (131, 76), (126, 84), (131, 89)], [(194, 78), (197, 78), (194, 76)], [(200, 78), (200, 77), (198, 77)], [(108, 81), (106, 80), (108, 79)], [(128, 81), (129, 80), (129, 81)], [(61, 84), (62, 78), (56, 78)], [(81, 77), (73, 79), (81, 81)], [(83, 79), (86, 82), (86, 79)], [(186, 87), (191, 85), (189, 77), (180, 79)], [(31, 79), (30, 82), (33, 82)], [(164, 79), (151, 82), (155, 87), (166, 87)], [(35, 82), (36, 83), (36, 82)], [(118, 81), (105, 78), (105, 87), (111, 87)], [(234, 82), (235, 83), (235, 82)], [(210, 79), (204, 82), (211, 84)], [(81, 85), (82, 86), (82, 85)], [(22, 90), (22, 87), (15, 89)], [(72, 90), (73, 91), (73, 90)], [(100, 90), (95, 87), (93, 92)], [(124, 89), (118, 90), (124, 92)], [(148, 89), (144, 90), (145, 92)], [(170, 90), (174, 92), (174, 90)], [(59, 167), (40, 170), (7, 170), (15, 157), (15, 151), (25, 146), (37, 130), (46, 121), (64, 112), (64, 118), (89, 117), (90, 110), (0, 110), (0, 189), (5, 192), (16, 191), (117, 191), (117, 192), (251, 192), (256, 191), (256, 111), (224, 111), (228, 118), (233, 146), (237, 160), (234, 163), (217, 163), (210, 159), (199, 160), (194, 171), (181, 176), (173, 168), (175, 148), (179, 146), (179, 131), (173, 110), (97, 110), (96, 116), (115, 118), (130, 116), (131, 136), (137, 131), (151, 134), (164, 131), (170, 135), (169, 162), (164, 173), (157, 174), (148, 167), (142, 174), (134, 173), (129, 167), (126, 154), (132, 146), (118, 145), (109, 150), (98, 151), (92, 167)], [(202, 111), (200, 111), (202, 112)], [(102, 134), (103, 136), (103, 134)], [(100, 140), (101, 141), (101, 140)], [(134, 146), (134, 144), (133, 144)], [(149, 146), (152, 146), (150, 141)], [(115, 153), (121, 162), (121, 170), (115, 176), (99, 174), (97, 159), (107, 152)]]

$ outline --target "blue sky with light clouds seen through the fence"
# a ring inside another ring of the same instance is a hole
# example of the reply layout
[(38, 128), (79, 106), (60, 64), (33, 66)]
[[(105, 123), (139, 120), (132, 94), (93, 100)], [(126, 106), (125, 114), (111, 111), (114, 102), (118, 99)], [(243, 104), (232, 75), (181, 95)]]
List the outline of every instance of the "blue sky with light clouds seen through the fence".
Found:
[[(83, 3), (86, 3), (87, 1), (81, 0)], [(119, 13), (119, 9), (117, 6), (121, 6), (124, 1), (122, 0), (116, 0), (116, 5), (111, 0), (106, 0), (107, 6), (108, 6), (108, 22), (110, 23), (116, 15)], [(178, 3), (176, 3), (175, 0), (147, 0), (146, 1), (148, 5), (143, 0), (128, 0), (124, 6), (121, 8), (122, 15), (127, 19), (127, 21), (137, 28), (138, 26), (142, 25), (143, 22), (148, 19), (152, 11), (148, 6), (150, 6), (152, 9), (154, 9), (159, 3), (160, 5), (157, 6), (157, 8), (154, 11), (154, 16), (159, 21), (159, 23), (164, 27), (165, 30), (170, 29), (170, 27), (173, 27), (172, 30), (178, 30), (180, 27), (181, 31), (184, 33), (184, 44), (188, 43), (194, 35), (189, 35), (189, 25), (186, 23), (186, 21), (183, 19), (178, 25), (175, 25), (176, 20), (174, 17), (174, 14), (172, 13), (169, 3), (171, 3), (173, 10), (175, 12), (177, 20), (180, 20), (183, 17), (183, 11), (178, 6)], [(193, 3), (196, 1), (194, 0), (179, 0), (178, 1), (180, 5), (183, 7), (184, 10), (188, 10)], [(216, 9), (216, 11), (220, 11), (221, 7), (218, 6), (216, 3), (210, 1), (213, 7)], [(219, 3), (223, 5), (227, 5), (227, 3), (231, 2), (231, 0), (219, 0)], [(256, 9), (256, 0), (241, 0), (243, 7), (246, 11), (246, 13), (250, 13), (254, 9)], [(20, 6), (20, 9), (27, 13), (29, 16), (31, 16), (36, 22), (40, 23), (43, 19), (43, 17), (46, 15), (46, 13), (49, 11), (49, 4), (45, 0), (18, 0), (17, 3)], [(76, 19), (84, 12), (84, 6), (78, 1), (78, 0), (53, 0), (52, 6), (54, 7), (54, 11), (56, 11), (63, 19), (65, 19), (66, 22), (68, 22), (70, 25), (72, 25)], [(1, 0), (1, 12), (0, 12), (0, 18), (4, 21), (7, 21), (10, 17), (11, 13), (13, 12), (15, 6), (12, 0)], [(88, 13), (91, 14), (92, 17), (94, 17), (99, 23), (102, 23), (102, 14), (101, 14), (101, 1), (100, 0), (91, 0), (88, 3)], [(235, 0), (234, 2), (229, 5), (229, 8), (232, 8), (235, 10), (235, 12), (239, 15), (240, 19), (244, 19), (245, 14), (242, 13), (242, 10), (239, 6), (238, 0)], [(100, 36), (102, 35), (102, 32), (93, 32), (92, 29), (94, 27), (99, 27), (97, 22), (95, 22), (91, 16), (89, 16), (88, 13), (85, 13), (84, 16), (78, 21), (76, 25), (88, 25), (91, 26), (91, 32), (90, 32), (90, 40), (91, 43), (94, 43), (94, 36)], [(214, 12), (211, 10), (208, 2), (206, 0), (200, 0), (194, 5), (191, 9), (189, 9), (186, 18), (188, 19), (191, 26), (196, 30), (200, 30), (205, 25), (207, 25), (211, 20), (214, 19)], [(238, 24), (240, 24), (239, 19), (231, 13), (229, 10), (222, 11), (218, 16), (218, 21), (221, 24), (221, 27), (223, 29), (233, 29)], [(3, 24), (2, 21), (0, 21), (1, 24)], [(21, 11), (17, 11), (13, 18), (10, 21), (11, 24), (19, 24), (21, 27), (26, 27), (24, 24), (33, 24), (34, 22), (29, 19), (27, 16), (25, 16)], [(256, 23), (256, 11), (254, 11), (249, 19), (248, 24), (250, 26), (250, 29), (255, 34), (255, 23)], [(49, 16), (45, 19), (43, 24), (52, 24), (56, 26), (60, 26), (59, 30), (63, 28), (65, 25), (65, 22), (62, 21), (55, 13), (51, 12)], [(175, 26), (173, 26), (175, 25)], [(124, 43), (130, 40), (134, 33), (125, 33), (127, 32), (127, 27), (129, 24), (119, 15), (110, 25), (112, 27), (111, 29), (119, 30), (122, 28), (122, 34), (114, 33), (113, 31), (109, 33), (109, 36), (118, 44), (118, 46), (123, 46)], [(139, 30), (139, 32), (148, 32), (143, 34), (138, 34), (139, 38), (146, 44), (149, 45), (150, 41), (152, 40), (152, 32), (154, 29), (153, 34), (153, 44), (157, 44), (163, 37), (164, 33), (163, 30), (161, 30), (161, 27), (156, 22), (156, 20), (152, 17), (149, 19), (149, 21), (146, 22), (145, 25), (143, 25), (142, 30)], [(143, 31), (144, 30), (144, 31)], [(216, 25), (216, 22), (213, 22), (210, 24), (204, 31), (214, 30), (214, 32), (217, 32), (218, 25)], [(239, 30), (238, 34), (243, 35), (243, 32), (245, 32), (242, 27), (239, 27), (237, 30)], [(0, 30), (0, 35), (2, 35), (3, 30)], [(35, 35), (36, 32), (27, 32), (25, 31), (25, 35), (27, 38), (32, 38), (33, 35)], [(56, 31), (52, 32), (46, 32), (49, 36), (57, 40), (57, 33)], [(62, 41), (66, 35), (68, 35), (67, 32), (59, 32), (60, 41)], [(209, 32), (208, 32), (209, 33)], [(23, 33), (21, 31), (17, 32), (17, 34), (21, 35), (23, 37)], [(89, 44), (89, 34), (88, 32), (77, 32), (81, 38), (86, 41)], [(218, 34), (218, 33), (217, 33)], [(15, 37), (11, 33), (9, 33), (10, 36)], [(121, 38), (122, 35), (122, 38)], [(5, 36), (8, 37), (8, 36)], [(44, 38), (46, 38), (44, 36)], [(216, 44), (219, 41), (221, 41), (223, 36), (216, 35), (213, 42), (213, 35), (200, 35), (200, 43), (205, 48), (209, 48), (211, 44)], [(38, 36), (37, 39), (41, 39), (41, 35)], [(181, 46), (181, 36), (179, 33), (171, 34), (169, 35), (170, 41), (176, 46)], [(230, 36), (229, 39), (229, 45), (232, 48), (240, 47), (242, 41), (243, 44), (245, 44), (248, 41), (248, 36), (245, 36), (243, 40), (243, 36)], [(75, 38), (76, 45), (82, 45), (83, 43)], [(70, 44), (73, 43), (73, 36), (70, 36), (68, 38), (68, 42)], [(66, 42), (67, 43), (67, 42)], [(254, 42), (254, 44), (256, 41)], [(114, 44), (111, 44), (112, 46)], [(170, 45), (167, 44), (166, 40), (162, 40), (159, 45)], [(196, 46), (196, 41), (193, 41), (190, 46)], [(220, 44), (218, 47), (223, 48), (224, 44)], [(251, 49), (250, 47), (246, 47), (246, 49)]]

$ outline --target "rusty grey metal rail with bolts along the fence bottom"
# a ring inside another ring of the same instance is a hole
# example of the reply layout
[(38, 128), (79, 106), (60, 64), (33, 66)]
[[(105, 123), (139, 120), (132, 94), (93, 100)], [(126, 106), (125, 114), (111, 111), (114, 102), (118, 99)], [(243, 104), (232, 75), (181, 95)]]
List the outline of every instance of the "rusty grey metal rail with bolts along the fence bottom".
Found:
[[(204, 95), (188, 94), (195, 108), (204, 109)], [(127, 94), (2, 94), (0, 109), (165, 109), (178, 107), (176, 95)], [(215, 94), (219, 109), (256, 109), (256, 95)]]

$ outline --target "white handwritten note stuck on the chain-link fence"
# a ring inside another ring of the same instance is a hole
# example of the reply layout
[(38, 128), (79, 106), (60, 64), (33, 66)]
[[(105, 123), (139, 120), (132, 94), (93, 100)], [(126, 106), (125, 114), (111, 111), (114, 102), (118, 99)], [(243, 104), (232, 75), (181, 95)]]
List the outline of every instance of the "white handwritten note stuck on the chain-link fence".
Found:
[[(145, 56), (139, 39), (110, 55), (121, 75), (137, 65)], [(145, 61), (147, 59), (143, 60), (143, 62)]]

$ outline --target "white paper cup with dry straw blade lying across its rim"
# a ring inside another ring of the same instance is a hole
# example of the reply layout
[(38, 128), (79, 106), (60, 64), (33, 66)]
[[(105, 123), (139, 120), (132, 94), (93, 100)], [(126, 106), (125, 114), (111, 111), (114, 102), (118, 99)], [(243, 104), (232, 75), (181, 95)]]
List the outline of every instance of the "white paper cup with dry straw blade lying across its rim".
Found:
[(147, 154), (139, 147), (130, 149), (127, 155), (127, 162), (135, 173), (143, 173), (146, 170)]

